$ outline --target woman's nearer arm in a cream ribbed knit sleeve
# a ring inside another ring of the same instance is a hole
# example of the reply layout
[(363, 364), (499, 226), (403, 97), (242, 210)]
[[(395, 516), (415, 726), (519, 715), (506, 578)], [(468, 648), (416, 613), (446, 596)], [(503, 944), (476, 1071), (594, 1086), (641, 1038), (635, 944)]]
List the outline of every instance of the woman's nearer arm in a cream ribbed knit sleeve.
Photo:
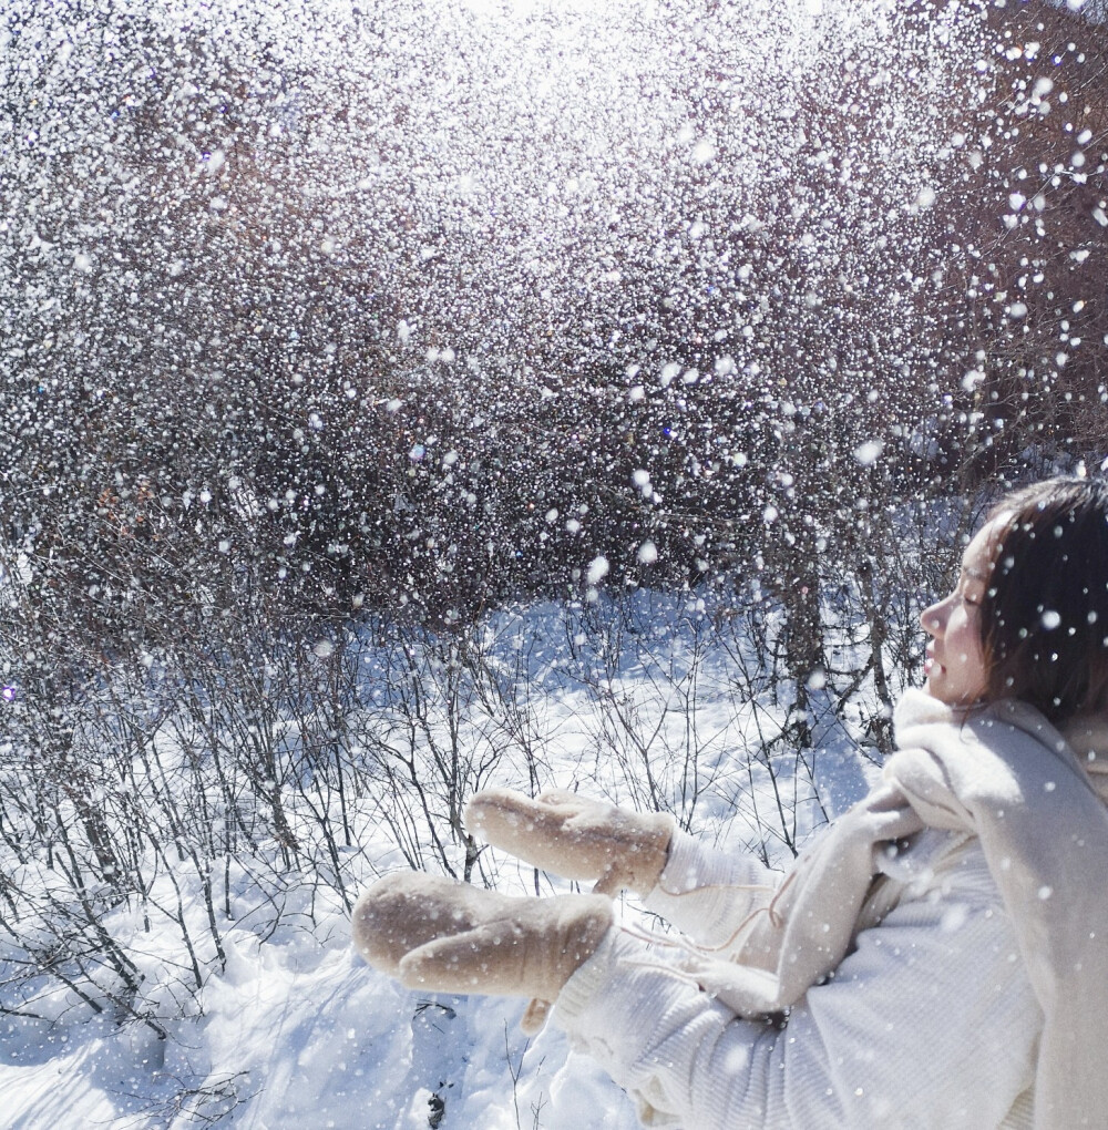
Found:
[(737, 1018), (616, 931), (555, 1016), (650, 1124), (696, 1130), (996, 1127), (1033, 1078), (1041, 1026), (976, 844), (945, 889), (863, 931), (784, 1027)]

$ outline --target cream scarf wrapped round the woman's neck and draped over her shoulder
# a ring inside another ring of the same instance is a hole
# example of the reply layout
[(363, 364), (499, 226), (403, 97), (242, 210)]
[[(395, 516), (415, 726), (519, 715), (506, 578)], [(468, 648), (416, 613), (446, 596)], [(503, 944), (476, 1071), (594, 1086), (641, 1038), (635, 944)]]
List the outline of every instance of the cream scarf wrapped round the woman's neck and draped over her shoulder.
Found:
[(1044, 1012), (1036, 1127), (1102, 1124), (1108, 720), (1077, 720), (1064, 738), (1023, 703), (967, 711), (909, 690), (894, 724), (899, 751), (881, 786), (798, 860), (745, 928), (735, 963), (698, 959), (698, 980), (742, 1016), (787, 1009), (895, 905), (903, 886), (874, 883), (891, 841), (925, 827), (970, 833)]

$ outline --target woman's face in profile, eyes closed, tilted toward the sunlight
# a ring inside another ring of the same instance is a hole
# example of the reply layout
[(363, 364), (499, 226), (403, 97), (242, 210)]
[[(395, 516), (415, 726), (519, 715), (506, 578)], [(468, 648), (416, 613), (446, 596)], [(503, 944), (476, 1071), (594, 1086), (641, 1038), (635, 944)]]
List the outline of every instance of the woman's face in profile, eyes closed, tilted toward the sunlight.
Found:
[(932, 637), (924, 664), (927, 693), (951, 706), (977, 702), (988, 685), (980, 617), (992, 570), (994, 524), (981, 527), (966, 547), (954, 591), (924, 609), (920, 617), (924, 631)]

